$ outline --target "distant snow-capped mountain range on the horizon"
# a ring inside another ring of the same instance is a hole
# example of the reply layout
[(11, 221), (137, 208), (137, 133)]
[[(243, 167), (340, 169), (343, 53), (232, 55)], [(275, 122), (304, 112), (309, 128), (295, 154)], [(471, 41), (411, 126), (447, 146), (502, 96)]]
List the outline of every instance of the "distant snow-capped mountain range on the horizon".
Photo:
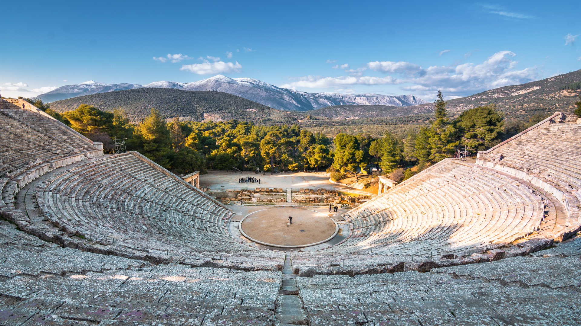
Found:
[(138, 84), (99, 84), (88, 81), (81, 84), (59, 87), (37, 98), (44, 102), (68, 99), (70, 97), (94, 93), (112, 92), (132, 88), (175, 88), (184, 90), (214, 90), (277, 108), (285, 111), (309, 111), (321, 107), (336, 105), (386, 105), (413, 106), (426, 103), (413, 95), (390, 96), (381, 94), (339, 94), (339, 93), (306, 93), (299, 90), (279, 88), (252, 78), (229, 78), (216, 75), (211, 78), (191, 83), (159, 81), (146, 85)]

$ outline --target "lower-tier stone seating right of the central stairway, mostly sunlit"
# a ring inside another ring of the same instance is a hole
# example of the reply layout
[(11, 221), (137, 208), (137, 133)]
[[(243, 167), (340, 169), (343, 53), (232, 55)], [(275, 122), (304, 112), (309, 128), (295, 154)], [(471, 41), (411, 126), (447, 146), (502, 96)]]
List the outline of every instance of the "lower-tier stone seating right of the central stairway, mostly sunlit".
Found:
[(347, 213), (352, 230), (346, 241), (328, 249), (332, 255), (301, 253), (295, 266), (381, 265), (482, 252), (527, 236), (542, 215), (540, 198), (516, 180), (444, 160)]

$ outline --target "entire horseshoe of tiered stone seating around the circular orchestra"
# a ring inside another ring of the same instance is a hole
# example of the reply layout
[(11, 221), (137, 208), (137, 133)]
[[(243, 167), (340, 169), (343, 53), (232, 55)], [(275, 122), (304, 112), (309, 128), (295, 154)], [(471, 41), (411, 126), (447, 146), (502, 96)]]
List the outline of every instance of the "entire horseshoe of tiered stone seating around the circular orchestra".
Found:
[[(283, 260), (237, 242), (227, 208), (140, 154), (102, 155), (0, 104), (1, 325), (276, 325), (293, 310), (309, 325), (581, 324), (581, 237), (513, 242), (544, 208), (486, 157), (433, 165), (349, 212), (342, 243)], [(581, 153), (554, 154), (578, 129), (555, 125), (500, 148), (571, 203)], [(555, 143), (517, 156), (543, 132)]]

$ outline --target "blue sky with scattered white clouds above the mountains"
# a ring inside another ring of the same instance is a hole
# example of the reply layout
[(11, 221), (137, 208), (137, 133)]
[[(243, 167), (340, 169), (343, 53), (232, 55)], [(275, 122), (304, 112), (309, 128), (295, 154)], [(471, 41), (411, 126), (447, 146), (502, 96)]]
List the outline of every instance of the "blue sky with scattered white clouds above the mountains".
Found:
[[(216, 74), (447, 99), (581, 68), (581, 2), (6, 1), (3, 96)], [(154, 59), (155, 58), (155, 59)], [(219, 59), (218, 59), (219, 58)]]

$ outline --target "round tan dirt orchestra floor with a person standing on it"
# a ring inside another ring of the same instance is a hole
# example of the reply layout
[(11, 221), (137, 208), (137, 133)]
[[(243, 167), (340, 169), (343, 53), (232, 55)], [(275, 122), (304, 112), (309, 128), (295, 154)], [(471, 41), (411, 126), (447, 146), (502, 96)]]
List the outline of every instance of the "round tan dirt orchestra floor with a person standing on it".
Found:
[(242, 222), (242, 230), (254, 240), (269, 244), (306, 245), (331, 237), (335, 223), (328, 213), (308, 208), (269, 207), (250, 213)]

